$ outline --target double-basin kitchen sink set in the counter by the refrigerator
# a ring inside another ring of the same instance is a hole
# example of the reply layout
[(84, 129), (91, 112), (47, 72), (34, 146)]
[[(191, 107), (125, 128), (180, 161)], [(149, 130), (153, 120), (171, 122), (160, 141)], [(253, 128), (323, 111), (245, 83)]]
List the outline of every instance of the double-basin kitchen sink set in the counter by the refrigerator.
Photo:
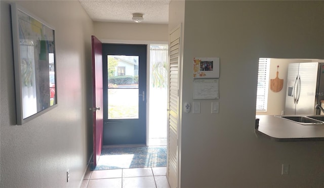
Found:
[(324, 125), (324, 116), (277, 116), (302, 125)]

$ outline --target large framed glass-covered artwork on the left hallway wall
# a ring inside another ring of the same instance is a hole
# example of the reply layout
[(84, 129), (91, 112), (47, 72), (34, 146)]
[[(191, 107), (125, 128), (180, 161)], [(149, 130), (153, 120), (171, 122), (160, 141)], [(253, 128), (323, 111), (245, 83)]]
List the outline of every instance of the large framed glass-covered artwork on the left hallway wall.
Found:
[(11, 4), (17, 124), (57, 106), (55, 30)]

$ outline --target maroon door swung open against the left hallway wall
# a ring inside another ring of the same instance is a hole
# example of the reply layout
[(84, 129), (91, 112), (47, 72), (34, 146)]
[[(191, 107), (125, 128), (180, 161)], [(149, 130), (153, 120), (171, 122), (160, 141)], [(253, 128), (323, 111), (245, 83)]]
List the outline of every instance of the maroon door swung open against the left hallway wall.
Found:
[(101, 154), (103, 133), (103, 90), (102, 90), (102, 43), (95, 36), (92, 40), (92, 90), (93, 90), (93, 165)]

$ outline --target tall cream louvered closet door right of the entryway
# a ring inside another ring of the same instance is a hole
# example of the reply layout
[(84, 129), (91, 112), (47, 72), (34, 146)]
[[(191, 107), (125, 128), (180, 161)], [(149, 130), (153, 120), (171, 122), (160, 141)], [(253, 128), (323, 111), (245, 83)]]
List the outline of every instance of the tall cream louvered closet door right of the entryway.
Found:
[(178, 186), (178, 113), (179, 113), (179, 47), (180, 28), (170, 34), (170, 67), (168, 90), (168, 181)]

